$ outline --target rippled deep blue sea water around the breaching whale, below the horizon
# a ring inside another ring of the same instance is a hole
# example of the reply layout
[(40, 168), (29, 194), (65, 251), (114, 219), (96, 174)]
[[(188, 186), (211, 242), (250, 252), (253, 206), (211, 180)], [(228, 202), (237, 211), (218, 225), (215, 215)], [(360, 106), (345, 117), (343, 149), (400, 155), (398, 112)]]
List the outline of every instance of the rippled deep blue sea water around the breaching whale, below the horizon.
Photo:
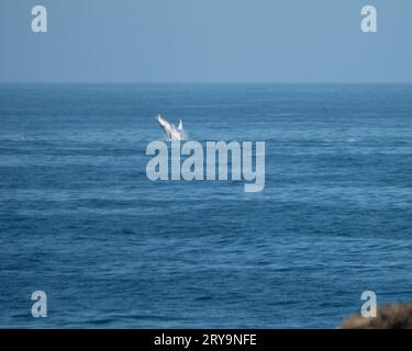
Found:
[[(265, 140), (265, 190), (151, 182), (158, 113)], [(366, 290), (411, 301), (411, 84), (1, 84), (0, 327), (335, 328)]]

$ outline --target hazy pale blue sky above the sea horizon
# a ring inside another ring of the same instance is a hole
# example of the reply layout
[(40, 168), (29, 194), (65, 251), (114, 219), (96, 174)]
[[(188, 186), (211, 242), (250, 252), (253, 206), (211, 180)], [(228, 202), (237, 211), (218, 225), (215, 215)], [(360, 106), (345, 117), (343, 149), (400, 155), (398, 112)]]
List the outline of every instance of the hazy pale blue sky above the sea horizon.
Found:
[(0, 82), (411, 82), (411, 0), (0, 0)]

